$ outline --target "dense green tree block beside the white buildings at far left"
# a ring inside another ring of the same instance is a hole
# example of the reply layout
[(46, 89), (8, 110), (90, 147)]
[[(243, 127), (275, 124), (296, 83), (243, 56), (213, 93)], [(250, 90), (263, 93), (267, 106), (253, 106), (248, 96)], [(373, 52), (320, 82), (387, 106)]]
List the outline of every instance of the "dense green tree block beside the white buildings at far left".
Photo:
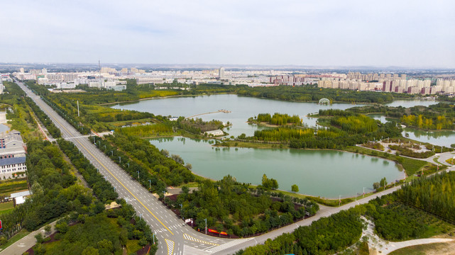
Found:
[(7, 235), (17, 227), (35, 230), (48, 220), (73, 210), (75, 198), (92, 202), (87, 189), (77, 184), (76, 178), (70, 174), (70, 166), (57, 147), (50, 142), (30, 140), (27, 151), (28, 181), (33, 200), (28, 199), (13, 211), (0, 215)]

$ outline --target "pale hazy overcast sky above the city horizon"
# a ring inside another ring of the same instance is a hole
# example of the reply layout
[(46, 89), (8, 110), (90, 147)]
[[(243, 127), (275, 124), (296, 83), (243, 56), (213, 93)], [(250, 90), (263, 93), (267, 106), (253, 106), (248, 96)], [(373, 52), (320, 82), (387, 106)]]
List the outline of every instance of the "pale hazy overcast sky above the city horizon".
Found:
[(2, 1), (0, 62), (455, 67), (455, 1)]

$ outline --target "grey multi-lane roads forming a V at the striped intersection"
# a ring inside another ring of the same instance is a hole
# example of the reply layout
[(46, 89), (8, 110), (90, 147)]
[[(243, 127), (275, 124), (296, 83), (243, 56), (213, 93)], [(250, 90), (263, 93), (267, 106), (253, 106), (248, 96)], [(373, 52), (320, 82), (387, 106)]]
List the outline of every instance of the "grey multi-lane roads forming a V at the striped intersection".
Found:
[[(39, 96), (26, 88), (21, 82), (16, 81), (21, 86), (23, 91), (30, 96), (33, 101), (49, 115), (57, 128), (60, 128), (62, 137), (75, 143), (78, 149), (89, 159), (92, 164), (97, 167), (100, 173), (105, 176), (121, 198), (124, 198), (128, 203), (133, 205), (136, 214), (143, 217), (150, 225), (159, 240), (158, 254), (234, 254), (239, 249), (245, 249), (248, 246), (255, 244), (263, 244), (267, 239), (273, 239), (285, 232), (292, 232), (295, 228), (304, 225), (310, 225), (314, 220), (319, 220), (321, 217), (327, 217), (331, 214), (346, 210), (361, 203), (368, 203), (369, 200), (378, 196), (383, 196), (396, 191), (396, 188), (390, 188), (387, 191), (376, 193), (373, 196), (361, 198), (356, 202), (343, 205), (338, 208), (322, 208), (317, 215), (301, 220), (291, 225), (287, 225), (280, 229), (275, 229), (272, 232), (262, 234), (261, 236), (245, 238), (245, 239), (221, 239), (209, 237), (199, 233), (186, 225), (173, 212), (168, 210), (163, 203), (152, 196), (146, 188), (143, 188), (140, 183), (131, 179), (126, 172), (121, 169), (116, 163), (112, 162), (109, 157), (106, 157), (102, 151), (89, 142), (87, 137), (84, 137), (77, 132), (69, 123), (60, 117), (53, 109), (43, 102)], [(454, 167), (451, 168), (453, 170)]]

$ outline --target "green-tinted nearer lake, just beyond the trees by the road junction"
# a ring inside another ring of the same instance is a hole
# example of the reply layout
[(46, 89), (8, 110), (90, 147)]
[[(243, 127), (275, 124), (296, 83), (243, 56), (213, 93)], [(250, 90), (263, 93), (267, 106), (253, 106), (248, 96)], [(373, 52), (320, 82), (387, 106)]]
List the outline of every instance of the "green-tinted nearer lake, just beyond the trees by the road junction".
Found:
[(219, 180), (231, 174), (237, 181), (261, 183), (263, 174), (290, 191), (297, 184), (300, 193), (325, 198), (348, 197), (371, 191), (373, 183), (385, 177), (403, 179), (394, 162), (376, 157), (327, 149), (215, 148), (207, 140), (171, 137), (150, 140), (158, 149), (178, 154), (192, 171)]

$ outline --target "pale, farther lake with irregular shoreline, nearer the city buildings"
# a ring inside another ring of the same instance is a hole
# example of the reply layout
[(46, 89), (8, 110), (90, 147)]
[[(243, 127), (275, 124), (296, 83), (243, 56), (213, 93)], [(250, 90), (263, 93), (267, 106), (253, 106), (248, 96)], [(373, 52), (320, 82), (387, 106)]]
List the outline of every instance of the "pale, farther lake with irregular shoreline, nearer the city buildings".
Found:
[(317, 113), (319, 109), (347, 109), (353, 106), (351, 103), (334, 103), (329, 106), (317, 103), (298, 103), (288, 101), (278, 101), (265, 98), (251, 98), (231, 94), (212, 95), (212, 96), (190, 96), (176, 97), (139, 101), (136, 103), (122, 103), (112, 108), (127, 109), (135, 111), (145, 111), (155, 115), (164, 116), (185, 116), (189, 117), (200, 113), (209, 113), (225, 109), (231, 113), (212, 113), (199, 115), (197, 118), (203, 120), (221, 120), (224, 123), (232, 123), (231, 128), (225, 129), (229, 135), (235, 137), (245, 133), (247, 136), (253, 135), (255, 130), (262, 129), (257, 125), (246, 123), (248, 118), (258, 115), (258, 113), (287, 113), (289, 115), (300, 115), (303, 122), (309, 126), (316, 125), (317, 118), (305, 117), (309, 113)]

